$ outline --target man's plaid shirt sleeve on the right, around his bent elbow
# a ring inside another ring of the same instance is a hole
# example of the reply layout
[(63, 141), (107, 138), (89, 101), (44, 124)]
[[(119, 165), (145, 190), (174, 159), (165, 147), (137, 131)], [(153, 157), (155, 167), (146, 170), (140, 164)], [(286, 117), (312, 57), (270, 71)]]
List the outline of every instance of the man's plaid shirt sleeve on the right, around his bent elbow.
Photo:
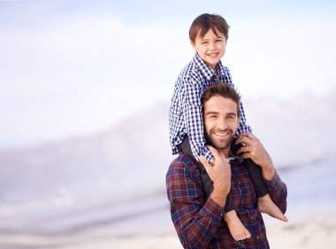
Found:
[(287, 188), (286, 184), (283, 183), (276, 172), (271, 181), (267, 181), (263, 179), (263, 183), (265, 184), (265, 187), (267, 191), (270, 194), (271, 199), (279, 207), (281, 212), (285, 214), (286, 212), (286, 198), (287, 198)]

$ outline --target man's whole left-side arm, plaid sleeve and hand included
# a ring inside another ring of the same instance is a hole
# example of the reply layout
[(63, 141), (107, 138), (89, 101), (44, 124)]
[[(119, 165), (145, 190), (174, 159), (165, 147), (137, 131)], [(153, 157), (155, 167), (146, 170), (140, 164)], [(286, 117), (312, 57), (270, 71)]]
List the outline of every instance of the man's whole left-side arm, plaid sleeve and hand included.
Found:
[(197, 180), (197, 173), (190, 172), (182, 161), (174, 161), (167, 174), (172, 222), (184, 248), (207, 248), (224, 213), (225, 199), (231, 188), (231, 169), (217, 152), (214, 155), (215, 165), (212, 167), (205, 157), (200, 158), (214, 183), (207, 199), (201, 178)]

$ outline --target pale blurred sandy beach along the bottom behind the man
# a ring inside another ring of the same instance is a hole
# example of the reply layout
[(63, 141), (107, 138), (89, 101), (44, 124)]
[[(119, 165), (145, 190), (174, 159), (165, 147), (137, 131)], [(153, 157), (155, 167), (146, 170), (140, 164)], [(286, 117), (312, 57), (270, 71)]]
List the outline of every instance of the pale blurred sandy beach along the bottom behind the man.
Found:
[[(336, 245), (336, 215), (311, 217), (294, 222), (265, 219), (272, 249), (334, 248)], [(0, 248), (59, 248), (59, 249), (168, 249), (182, 248), (175, 230), (115, 235), (109, 226), (79, 230), (73, 233), (7, 234), (0, 236)]]

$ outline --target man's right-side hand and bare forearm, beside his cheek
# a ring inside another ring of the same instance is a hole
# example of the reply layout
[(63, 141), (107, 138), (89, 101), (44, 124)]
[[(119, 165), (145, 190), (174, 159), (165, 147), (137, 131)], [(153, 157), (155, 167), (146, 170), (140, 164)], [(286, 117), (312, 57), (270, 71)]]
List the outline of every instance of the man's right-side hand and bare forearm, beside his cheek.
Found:
[(264, 149), (260, 140), (250, 132), (242, 132), (235, 144), (242, 144), (237, 153), (243, 159), (251, 159), (262, 167), (263, 178), (271, 180), (275, 174), (273, 162), (269, 153)]

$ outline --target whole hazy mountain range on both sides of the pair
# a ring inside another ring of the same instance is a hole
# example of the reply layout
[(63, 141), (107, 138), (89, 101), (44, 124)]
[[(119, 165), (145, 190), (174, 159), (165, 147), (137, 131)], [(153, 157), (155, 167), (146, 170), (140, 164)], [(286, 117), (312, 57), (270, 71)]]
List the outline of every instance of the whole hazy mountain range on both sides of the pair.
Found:
[[(335, 94), (244, 102), (248, 123), (277, 167), (304, 166), (336, 155)], [(92, 136), (0, 152), (0, 200), (116, 198), (164, 191), (172, 160), (168, 108), (168, 103), (157, 104)]]

